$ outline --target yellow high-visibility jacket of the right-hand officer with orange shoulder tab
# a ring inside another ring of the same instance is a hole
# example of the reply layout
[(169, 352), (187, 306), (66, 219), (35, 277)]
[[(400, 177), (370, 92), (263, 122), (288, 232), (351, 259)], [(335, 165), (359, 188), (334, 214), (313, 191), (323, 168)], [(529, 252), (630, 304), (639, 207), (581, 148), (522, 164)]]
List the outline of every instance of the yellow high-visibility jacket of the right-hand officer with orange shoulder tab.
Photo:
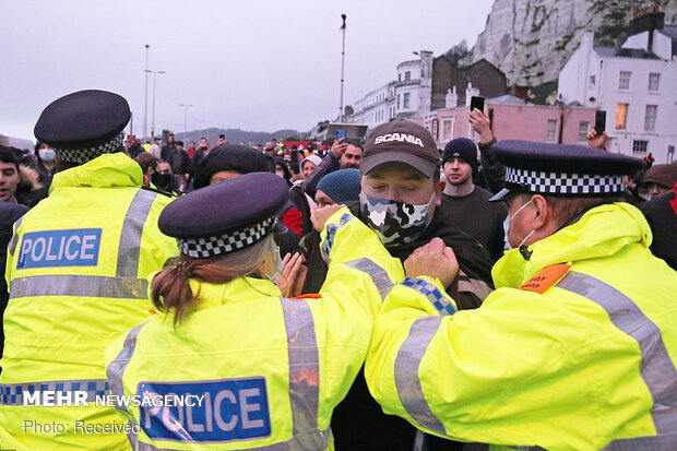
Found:
[(405, 278), (375, 323), (371, 393), (465, 441), (677, 449), (677, 272), (651, 240), (636, 207), (592, 209), (528, 260), (507, 252), (476, 310), (456, 312), (437, 280)]

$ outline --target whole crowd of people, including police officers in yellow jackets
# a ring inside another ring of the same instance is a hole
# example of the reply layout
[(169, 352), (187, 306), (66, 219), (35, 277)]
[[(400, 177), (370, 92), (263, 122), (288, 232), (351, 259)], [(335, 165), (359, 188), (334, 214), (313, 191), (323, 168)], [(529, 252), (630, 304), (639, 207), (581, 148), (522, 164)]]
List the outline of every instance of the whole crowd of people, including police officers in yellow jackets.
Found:
[[(0, 447), (677, 449), (677, 165), (479, 109), (443, 149), (405, 120), (146, 149), (129, 115), (73, 93), (0, 149)], [(22, 401), (74, 384), (210, 404)]]

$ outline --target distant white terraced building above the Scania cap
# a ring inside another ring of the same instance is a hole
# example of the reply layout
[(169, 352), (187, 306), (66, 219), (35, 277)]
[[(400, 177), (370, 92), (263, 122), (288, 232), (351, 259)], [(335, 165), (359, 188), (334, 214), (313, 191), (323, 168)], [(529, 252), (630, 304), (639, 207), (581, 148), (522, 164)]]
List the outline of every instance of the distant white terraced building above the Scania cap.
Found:
[(369, 129), (393, 118), (424, 116), (430, 111), (432, 52), (418, 52), (419, 59), (397, 64), (397, 80), (369, 92), (353, 104), (353, 123)]

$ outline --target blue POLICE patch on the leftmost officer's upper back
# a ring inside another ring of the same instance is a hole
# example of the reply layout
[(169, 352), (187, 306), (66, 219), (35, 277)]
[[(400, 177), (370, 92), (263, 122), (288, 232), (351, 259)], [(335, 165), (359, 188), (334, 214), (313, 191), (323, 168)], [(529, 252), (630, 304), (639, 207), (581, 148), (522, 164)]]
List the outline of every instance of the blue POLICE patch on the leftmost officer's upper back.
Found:
[(96, 266), (100, 242), (100, 228), (32, 232), (21, 238), (16, 269)]

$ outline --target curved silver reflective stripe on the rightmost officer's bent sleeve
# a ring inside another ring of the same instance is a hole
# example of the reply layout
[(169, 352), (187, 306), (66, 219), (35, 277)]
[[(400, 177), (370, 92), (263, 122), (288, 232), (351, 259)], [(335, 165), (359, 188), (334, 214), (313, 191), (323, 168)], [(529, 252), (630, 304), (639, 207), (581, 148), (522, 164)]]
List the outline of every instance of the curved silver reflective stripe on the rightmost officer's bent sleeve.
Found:
[(405, 411), (423, 427), (447, 435), (426, 401), (418, 379), (420, 360), (438, 331), (443, 317), (423, 317), (414, 321), (409, 334), (395, 357), (395, 387)]

